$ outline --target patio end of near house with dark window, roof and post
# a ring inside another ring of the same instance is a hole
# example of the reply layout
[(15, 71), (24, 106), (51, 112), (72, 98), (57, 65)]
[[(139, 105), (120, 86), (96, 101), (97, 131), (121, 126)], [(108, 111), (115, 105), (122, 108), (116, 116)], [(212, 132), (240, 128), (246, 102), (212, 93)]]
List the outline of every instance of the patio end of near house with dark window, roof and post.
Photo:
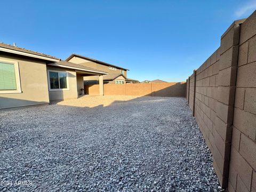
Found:
[(99, 94), (103, 95), (103, 75), (105, 71), (92, 69), (68, 61), (59, 61), (47, 64), (49, 82), (49, 98), (53, 100), (65, 100), (78, 98), (84, 89), (84, 77), (99, 77)]

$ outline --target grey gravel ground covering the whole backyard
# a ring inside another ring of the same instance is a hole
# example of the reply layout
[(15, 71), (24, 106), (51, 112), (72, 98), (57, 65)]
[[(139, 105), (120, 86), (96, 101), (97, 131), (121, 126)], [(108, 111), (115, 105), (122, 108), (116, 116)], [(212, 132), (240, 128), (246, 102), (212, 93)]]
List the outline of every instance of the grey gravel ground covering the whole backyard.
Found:
[(0, 121), (0, 191), (221, 191), (184, 98), (82, 97)]

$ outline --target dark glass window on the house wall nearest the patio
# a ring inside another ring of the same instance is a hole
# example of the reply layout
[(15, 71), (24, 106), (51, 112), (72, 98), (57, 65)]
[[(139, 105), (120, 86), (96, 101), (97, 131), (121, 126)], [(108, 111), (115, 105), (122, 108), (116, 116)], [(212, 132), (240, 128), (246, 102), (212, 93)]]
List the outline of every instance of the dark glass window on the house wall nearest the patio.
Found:
[(48, 70), (50, 91), (68, 90), (68, 73)]

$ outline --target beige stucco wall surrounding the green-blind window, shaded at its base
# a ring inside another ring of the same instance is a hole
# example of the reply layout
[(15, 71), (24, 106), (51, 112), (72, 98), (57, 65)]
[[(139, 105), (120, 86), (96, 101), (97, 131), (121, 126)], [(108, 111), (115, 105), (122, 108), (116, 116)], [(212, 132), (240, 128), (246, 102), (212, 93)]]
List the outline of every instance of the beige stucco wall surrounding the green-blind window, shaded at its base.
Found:
[(18, 61), (22, 93), (0, 94), (0, 109), (49, 103), (46, 65), (42, 60), (0, 53), (0, 61)]

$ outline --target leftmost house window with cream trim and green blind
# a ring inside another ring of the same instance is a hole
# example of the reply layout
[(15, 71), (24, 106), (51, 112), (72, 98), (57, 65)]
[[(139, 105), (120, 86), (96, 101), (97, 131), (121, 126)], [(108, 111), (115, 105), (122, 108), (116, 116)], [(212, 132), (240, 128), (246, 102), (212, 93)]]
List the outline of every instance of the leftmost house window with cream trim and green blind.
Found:
[(21, 93), (17, 61), (0, 61), (0, 93)]

